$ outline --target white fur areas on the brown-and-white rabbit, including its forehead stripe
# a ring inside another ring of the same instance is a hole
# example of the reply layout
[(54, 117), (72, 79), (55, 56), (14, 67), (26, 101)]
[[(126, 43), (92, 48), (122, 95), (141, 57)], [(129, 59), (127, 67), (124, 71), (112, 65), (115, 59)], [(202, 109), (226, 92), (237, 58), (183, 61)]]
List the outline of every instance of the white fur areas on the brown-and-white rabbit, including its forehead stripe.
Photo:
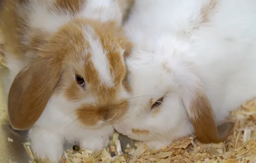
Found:
[[(29, 0), (27, 6), (18, 6), (18, 14), (27, 17), (27, 24), (31, 28), (40, 28), (49, 33), (55, 33), (58, 29), (73, 18), (92, 18), (101, 21), (116, 21), (121, 24), (123, 13), (118, 2), (115, 0), (86, 0), (85, 7), (75, 16), (67, 13), (50, 12), (49, 7), (55, 0)], [(24, 12), (26, 11), (26, 12)], [(113, 86), (113, 78), (109, 71), (107, 55), (99, 39), (94, 38), (95, 33), (92, 27), (85, 27), (84, 33), (91, 45), (92, 60), (98, 70), (102, 82), (108, 86)], [(33, 33), (30, 30), (24, 33), (22, 43), (29, 45)], [(123, 49), (120, 51), (123, 51)], [(82, 54), (81, 54), (82, 55)], [(5, 61), (9, 68), (9, 74), (5, 84), (6, 97), (9, 88), (18, 72), (30, 64), (30, 60), (20, 61), (12, 54), (5, 53)], [(27, 57), (34, 57), (27, 54)], [(120, 99), (127, 98), (128, 94), (120, 91)], [(113, 126), (102, 127), (103, 121), (98, 122), (94, 127), (86, 127), (77, 121), (76, 110), (83, 103), (95, 102), (93, 97), (88, 97), (83, 101), (71, 103), (60, 95), (52, 96), (43, 111), (42, 115), (34, 126), (29, 130), (28, 137), (31, 140), (34, 154), (39, 158), (48, 158), (53, 163), (58, 163), (63, 155), (63, 143), (65, 141), (78, 142), (82, 148), (91, 150), (101, 150), (109, 142), (109, 136), (113, 133)], [(32, 115), (31, 115), (32, 116)]]

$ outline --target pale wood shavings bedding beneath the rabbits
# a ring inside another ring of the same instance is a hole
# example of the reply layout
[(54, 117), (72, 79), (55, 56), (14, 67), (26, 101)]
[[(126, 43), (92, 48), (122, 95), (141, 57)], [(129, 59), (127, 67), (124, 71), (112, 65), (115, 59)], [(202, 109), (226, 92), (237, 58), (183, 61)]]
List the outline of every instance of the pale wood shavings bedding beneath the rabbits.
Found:
[[(119, 134), (115, 133), (110, 147), (95, 155), (93, 151), (67, 150), (61, 163), (254, 163), (256, 162), (256, 99), (242, 105), (231, 113), (235, 121), (232, 135), (219, 144), (201, 144), (196, 136), (174, 141), (161, 151), (147, 151), (138, 142), (137, 148), (128, 144), (128, 153), (121, 151)], [(27, 143), (27, 145), (29, 145)], [(33, 158), (31, 151), (26, 149)], [(111, 157), (110, 151), (116, 156)]]

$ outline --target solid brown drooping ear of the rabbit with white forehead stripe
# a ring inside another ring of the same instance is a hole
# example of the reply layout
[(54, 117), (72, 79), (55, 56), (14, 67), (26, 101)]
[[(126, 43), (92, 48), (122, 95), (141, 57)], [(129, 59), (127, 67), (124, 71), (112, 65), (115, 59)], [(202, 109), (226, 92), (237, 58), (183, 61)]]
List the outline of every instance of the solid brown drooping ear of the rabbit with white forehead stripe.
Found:
[(43, 113), (61, 77), (61, 60), (39, 57), (15, 77), (8, 96), (9, 121), (28, 130)]

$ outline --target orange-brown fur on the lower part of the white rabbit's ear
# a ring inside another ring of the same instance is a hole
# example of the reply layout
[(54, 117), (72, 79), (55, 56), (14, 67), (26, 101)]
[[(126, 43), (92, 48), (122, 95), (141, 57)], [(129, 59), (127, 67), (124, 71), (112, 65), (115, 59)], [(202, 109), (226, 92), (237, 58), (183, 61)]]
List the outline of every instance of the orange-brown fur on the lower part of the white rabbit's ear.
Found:
[[(195, 94), (195, 98), (191, 101), (190, 109), (194, 116), (190, 118), (200, 142), (219, 143), (227, 139), (233, 128), (232, 124), (227, 123), (227, 125), (224, 124), (217, 129), (213, 109), (204, 92), (198, 91)], [(219, 130), (221, 130), (221, 133)], [(221, 137), (219, 137), (219, 133)]]

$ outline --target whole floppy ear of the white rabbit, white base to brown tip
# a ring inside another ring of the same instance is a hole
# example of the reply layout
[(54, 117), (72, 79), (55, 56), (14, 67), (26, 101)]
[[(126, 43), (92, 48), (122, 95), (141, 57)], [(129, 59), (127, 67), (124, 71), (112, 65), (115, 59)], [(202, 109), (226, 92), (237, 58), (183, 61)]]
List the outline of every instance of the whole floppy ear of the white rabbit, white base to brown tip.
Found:
[(201, 143), (219, 143), (227, 139), (235, 124), (227, 121), (216, 126), (213, 109), (201, 84), (184, 91), (183, 103)]

